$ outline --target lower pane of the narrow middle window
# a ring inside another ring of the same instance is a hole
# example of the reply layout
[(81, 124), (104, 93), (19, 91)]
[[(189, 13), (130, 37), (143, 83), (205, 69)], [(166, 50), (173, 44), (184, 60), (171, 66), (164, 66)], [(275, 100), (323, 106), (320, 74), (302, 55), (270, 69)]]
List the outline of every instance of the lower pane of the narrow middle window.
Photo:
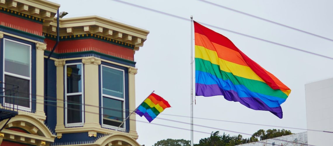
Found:
[(81, 95), (67, 96), (67, 123), (82, 122)]

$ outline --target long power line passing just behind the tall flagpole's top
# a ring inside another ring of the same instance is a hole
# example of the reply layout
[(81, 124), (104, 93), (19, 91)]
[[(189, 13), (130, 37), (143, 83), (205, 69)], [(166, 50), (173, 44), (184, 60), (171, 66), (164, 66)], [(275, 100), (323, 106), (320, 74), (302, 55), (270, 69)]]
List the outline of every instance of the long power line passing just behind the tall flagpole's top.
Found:
[[(190, 21), (187, 18), (183, 18), (183, 17), (177, 16), (177, 15), (169, 14), (169, 13), (162, 12), (162, 11), (159, 11), (159, 10), (143, 7), (143, 6), (140, 6), (140, 5), (124, 2), (124, 1), (121, 1), (121, 0), (112, 0), (112, 1), (116, 1), (116, 2), (123, 3), (123, 4), (126, 4), (126, 5), (130, 5), (130, 6), (133, 6), (133, 7), (145, 9), (145, 10), (152, 11), (152, 12), (155, 12), (155, 13), (160, 13), (160, 14), (163, 14), (163, 15), (166, 15), (166, 16), (177, 18), (177, 19)], [(224, 31), (227, 31), (227, 32), (231, 32), (231, 33), (234, 33), (234, 34), (241, 35), (241, 36), (249, 37), (249, 38), (252, 38), (252, 39), (260, 40), (260, 41), (263, 41), (263, 42), (275, 44), (275, 45), (278, 45), (278, 46), (286, 47), (286, 48), (289, 48), (289, 49), (293, 49), (293, 50), (297, 50), (297, 51), (301, 51), (301, 52), (309, 53), (309, 54), (312, 54), (312, 55), (315, 55), (315, 56), (320, 56), (320, 57), (323, 57), (323, 58), (333, 60), (333, 58), (328, 57), (328, 56), (324, 56), (324, 55), (320, 55), (320, 54), (317, 54), (317, 53), (313, 53), (313, 52), (305, 51), (305, 50), (302, 50), (302, 49), (298, 49), (298, 48), (295, 48), (295, 47), (291, 47), (291, 46), (283, 45), (283, 44), (280, 44), (280, 43), (268, 41), (268, 40), (265, 40), (265, 39), (257, 38), (257, 37), (254, 37), (254, 36), (246, 35), (246, 34), (243, 34), (243, 33), (235, 32), (235, 31), (224, 29), (224, 28), (221, 28), (221, 27), (213, 26), (213, 25), (210, 25), (210, 24), (207, 24), (207, 23), (203, 23), (203, 22), (199, 22), (199, 21), (197, 21), (197, 22), (200, 23), (200, 24), (206, 25), (206, 26), (210, 26), (210, 27), (213, 27), (213, 28), (216, 28), (216, 29), (224, 30)]]

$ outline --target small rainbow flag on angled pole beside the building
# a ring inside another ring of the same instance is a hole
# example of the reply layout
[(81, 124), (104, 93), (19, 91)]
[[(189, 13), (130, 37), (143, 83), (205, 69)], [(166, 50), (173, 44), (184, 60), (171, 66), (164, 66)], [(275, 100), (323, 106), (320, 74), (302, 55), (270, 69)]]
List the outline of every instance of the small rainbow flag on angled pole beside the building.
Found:
[(142, 104), (137, 108), (135, 113), (145, 116), (146, 119), (151, 122), (157, 115), (159, 115), (164, 109), (171, 107), (170, 104), (164, 100), (161, 96), (152, 93)]

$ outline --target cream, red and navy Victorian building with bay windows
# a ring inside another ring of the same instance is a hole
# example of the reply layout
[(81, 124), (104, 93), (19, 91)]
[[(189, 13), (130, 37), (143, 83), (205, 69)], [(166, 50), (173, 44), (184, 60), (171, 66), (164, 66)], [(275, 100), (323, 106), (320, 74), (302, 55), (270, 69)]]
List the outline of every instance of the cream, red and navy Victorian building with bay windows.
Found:
[(138, 146), (134, 54), (149, 31), (0, 0), (0, 144)]

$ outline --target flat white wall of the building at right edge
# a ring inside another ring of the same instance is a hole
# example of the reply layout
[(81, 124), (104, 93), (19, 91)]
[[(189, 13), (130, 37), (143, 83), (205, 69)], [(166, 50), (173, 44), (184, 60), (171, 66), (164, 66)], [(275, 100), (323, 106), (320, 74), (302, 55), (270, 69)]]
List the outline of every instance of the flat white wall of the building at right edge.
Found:
[[(305, 84), (307, 129), (333, 131), (333, 78)], [(333, 145), (333, 133), (308, 130), (308, 144)]]

